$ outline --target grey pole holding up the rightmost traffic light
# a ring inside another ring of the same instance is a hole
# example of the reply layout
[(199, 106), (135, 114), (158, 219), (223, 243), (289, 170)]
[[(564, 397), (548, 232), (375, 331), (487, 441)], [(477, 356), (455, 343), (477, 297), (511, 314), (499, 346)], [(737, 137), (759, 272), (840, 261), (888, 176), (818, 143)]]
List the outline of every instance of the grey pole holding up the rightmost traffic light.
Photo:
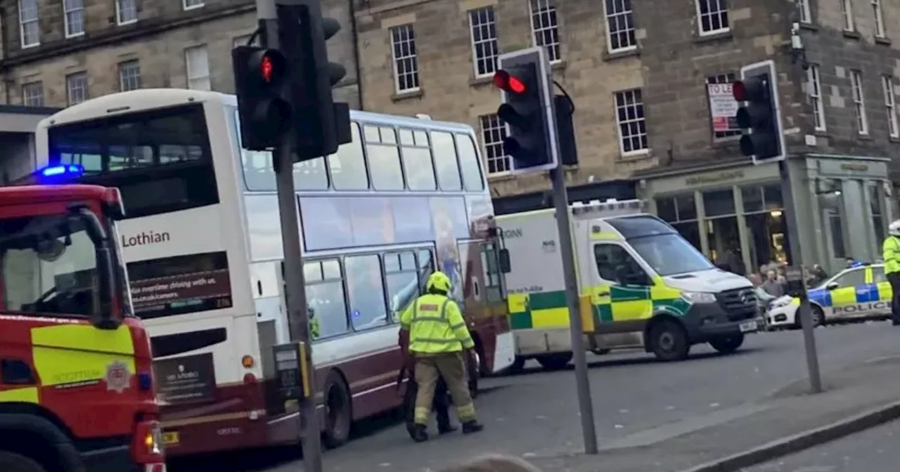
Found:
[[(788, 245), (790, 246), (790, 264), (796, 269), (803, 267), (803, 253), (800, 252), (800, 231), (798, 229), (797, 205), (794, 202), (794, 191), (790, 183), (790, 170), (788, 160), (779, 162), (779, 174), (781, 175), (781, 195), (784, 200), (786, 226), (788, 227)], [(815, 326), (813, 325), (813, 309), (809, 305), (809, 295), (806, 293), (806, 275), (801, 272), (801, 286), (799, 290), (800, 306), (797, 314), (800, 316), (800, 325), (803, 326), (803, 344), (806, 348), (806, 370), (809, 374), (809, 387), (812, 393), (822, 392), (822, 377), (819, 373), (819, 356), (815, 349)]]

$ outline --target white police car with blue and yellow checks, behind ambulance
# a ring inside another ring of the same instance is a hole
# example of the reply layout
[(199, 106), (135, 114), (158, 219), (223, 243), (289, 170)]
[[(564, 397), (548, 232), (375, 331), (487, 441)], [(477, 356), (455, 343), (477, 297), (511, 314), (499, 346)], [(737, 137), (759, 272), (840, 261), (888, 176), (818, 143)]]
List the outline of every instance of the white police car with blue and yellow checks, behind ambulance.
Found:
[[(891, 285), (882, 263), (845, 269), (807, 293), (816, 326), (860, 318), (887, 318), (891, 314)], [(767, 325), (799, 327), (799, 305), (798, 298), (787, 295), (772, 300), (766, 314)]]

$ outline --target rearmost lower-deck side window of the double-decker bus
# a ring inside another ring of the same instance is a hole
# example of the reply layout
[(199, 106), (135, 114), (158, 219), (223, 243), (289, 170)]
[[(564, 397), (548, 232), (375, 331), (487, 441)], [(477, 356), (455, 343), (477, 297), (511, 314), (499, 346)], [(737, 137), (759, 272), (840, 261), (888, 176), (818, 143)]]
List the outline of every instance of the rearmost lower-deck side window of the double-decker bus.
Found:
[[(344, 303), (344, 283), (340, 278), (337, 260), (304, 263), (306, 301), (310, 314), (319, 322), (319, 338), (328, 338), (350, 331), (347, 325), (347, 306)], [(334, 268), (338, 268), (337, 271)]]

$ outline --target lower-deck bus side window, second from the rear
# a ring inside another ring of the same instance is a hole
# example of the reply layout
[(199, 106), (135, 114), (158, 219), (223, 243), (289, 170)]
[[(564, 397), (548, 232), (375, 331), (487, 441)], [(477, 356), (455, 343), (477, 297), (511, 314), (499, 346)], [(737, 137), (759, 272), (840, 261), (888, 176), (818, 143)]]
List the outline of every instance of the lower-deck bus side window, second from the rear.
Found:
[(375, 254), (353, 255), (344, 259), (350, 320), (357, 331), (388, 323), (381, 265)]

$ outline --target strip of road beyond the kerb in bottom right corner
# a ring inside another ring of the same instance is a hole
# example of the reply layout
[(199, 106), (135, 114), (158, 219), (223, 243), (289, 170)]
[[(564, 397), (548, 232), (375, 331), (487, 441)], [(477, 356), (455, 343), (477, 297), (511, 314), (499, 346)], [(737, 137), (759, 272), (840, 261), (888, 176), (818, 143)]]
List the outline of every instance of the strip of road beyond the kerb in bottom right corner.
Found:
[(896, 472), (900, 421), (859, 432), (743, 472)]

